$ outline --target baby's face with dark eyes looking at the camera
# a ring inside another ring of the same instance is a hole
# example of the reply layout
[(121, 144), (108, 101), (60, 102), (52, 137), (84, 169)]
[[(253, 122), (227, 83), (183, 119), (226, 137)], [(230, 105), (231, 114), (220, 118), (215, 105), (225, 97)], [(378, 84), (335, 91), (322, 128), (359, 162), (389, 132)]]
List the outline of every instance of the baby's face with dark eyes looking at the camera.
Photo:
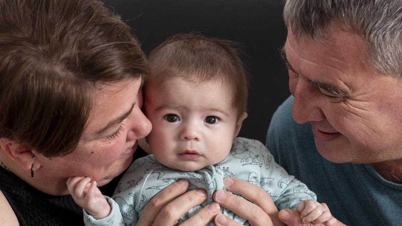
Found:
[(152, 123), (148, 143), (159, 162), (172, 169), (195, 171), (229, 154), (244, 117), (238, 120), (227, 87), (174, 79), (146, 95), (144, 109)]

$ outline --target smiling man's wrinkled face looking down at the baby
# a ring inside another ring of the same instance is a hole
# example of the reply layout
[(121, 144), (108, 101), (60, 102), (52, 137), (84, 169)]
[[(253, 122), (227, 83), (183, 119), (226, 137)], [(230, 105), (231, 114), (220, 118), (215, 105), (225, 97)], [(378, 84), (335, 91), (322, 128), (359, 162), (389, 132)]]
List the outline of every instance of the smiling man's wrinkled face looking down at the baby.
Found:
[(298, 41), (285, 53), (297, 123), (310, 122), (318, 152), (332, 162), (402, 158), (402, 82), (370, 68), (365, 41), (334, 29), (330, 40)]

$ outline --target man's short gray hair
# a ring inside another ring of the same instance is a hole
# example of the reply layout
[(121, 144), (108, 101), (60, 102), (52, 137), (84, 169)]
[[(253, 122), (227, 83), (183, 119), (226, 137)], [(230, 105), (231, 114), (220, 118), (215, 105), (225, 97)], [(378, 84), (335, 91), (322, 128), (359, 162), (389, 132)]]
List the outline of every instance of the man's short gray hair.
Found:
[(286, 0), (283, 17), (296, 39), (346, 25), (366, 40), (375, 72), (402, 77), (402, 0)]

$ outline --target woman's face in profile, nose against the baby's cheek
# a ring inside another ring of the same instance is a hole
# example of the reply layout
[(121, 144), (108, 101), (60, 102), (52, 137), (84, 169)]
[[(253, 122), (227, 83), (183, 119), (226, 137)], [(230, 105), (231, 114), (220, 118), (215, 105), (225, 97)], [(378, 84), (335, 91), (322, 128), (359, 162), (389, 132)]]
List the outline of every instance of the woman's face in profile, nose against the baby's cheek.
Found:
[(87, 127), (76, 150), (64, 157), (37, 158), (41, 167), (34, 179), (49, 186), (52, 191), (47, 193), (67, 194), (66, 180), (72, 176), (91, 177), (98, 186), (105, 185), (130, 165), (137, 140), (151, 131), (151, 123), (141, 111), (140, 87), (137, 78), (94, 92)]

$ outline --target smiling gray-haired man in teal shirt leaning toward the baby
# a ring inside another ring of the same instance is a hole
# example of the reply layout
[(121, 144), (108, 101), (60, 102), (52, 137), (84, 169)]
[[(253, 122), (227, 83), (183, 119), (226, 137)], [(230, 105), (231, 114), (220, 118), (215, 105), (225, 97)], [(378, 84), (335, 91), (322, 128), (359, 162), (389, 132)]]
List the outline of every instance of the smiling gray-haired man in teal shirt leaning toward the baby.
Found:
[[(293, 97), (274, 114), (267, 146), (347, 225), (402, 222), (401, 8), (401, 0), (285, 4)], [(295, 211), (279, 218), (303, 225)]]

